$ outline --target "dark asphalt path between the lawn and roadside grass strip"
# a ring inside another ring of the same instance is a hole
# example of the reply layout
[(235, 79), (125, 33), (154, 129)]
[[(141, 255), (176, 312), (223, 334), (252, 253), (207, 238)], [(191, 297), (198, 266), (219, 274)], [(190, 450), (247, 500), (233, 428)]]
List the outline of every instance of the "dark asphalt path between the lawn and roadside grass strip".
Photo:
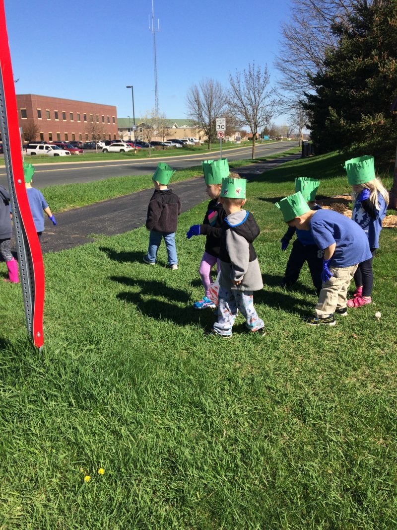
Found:
[[(276, 158), (267, 162), (239, 167), (236, 172), (244, 179), (252, 180), (284, 162), (299, 158), (300, 154)], [(203, 179), (190, 179), (172, 184), (172, 189), (182, 202), (182, 211), (193, 208), (208, 196)], [(143, 226), (153, 188), (131, 193), (116, 199), (55, 213), (57, 226), (46, 218), (46, 229), (41, 236), (43, 253), (57, 252), (95, 241), (93, 234), (116, 235)], [(47, 216), (46, 216), (47, 217)]]

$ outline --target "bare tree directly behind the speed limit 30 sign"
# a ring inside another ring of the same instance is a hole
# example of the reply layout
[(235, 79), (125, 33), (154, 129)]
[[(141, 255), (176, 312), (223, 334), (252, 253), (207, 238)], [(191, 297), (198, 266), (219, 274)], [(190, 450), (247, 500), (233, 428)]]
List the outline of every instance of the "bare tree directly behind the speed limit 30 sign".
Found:
[(216, 118), (223, 118), (226, 110), (226, 93), (218, 81), (205, 79), (192, 85), (186, 96), (187, 110), (197, 127), (204, 130), (208, 148), (215, 138)]

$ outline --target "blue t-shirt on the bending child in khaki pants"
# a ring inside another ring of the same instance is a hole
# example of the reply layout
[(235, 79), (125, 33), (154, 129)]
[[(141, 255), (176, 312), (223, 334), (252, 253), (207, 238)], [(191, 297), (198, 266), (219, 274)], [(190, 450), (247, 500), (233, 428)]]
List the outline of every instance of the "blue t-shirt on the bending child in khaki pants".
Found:
[(317, 211), (310, 218), (310, 232), (321, 250), (336, 243), (330, 267), (351, 267), (372, 258), (363, 229), (337, 211)]

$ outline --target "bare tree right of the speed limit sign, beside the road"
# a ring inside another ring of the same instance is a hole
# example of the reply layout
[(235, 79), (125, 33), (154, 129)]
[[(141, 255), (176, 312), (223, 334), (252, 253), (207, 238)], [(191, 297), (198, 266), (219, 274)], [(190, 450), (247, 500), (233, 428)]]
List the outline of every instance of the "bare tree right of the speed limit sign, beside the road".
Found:
[(234, 116), (251, 130), (252, 158), (255, 158), (258, 129), (269, 123), (275, 110), (274, 90), (269, 89), (269, 81), (267, 66), (262, 70), (255, 63), (249, 64), (242, 73), (229, 76), (228, 105)]

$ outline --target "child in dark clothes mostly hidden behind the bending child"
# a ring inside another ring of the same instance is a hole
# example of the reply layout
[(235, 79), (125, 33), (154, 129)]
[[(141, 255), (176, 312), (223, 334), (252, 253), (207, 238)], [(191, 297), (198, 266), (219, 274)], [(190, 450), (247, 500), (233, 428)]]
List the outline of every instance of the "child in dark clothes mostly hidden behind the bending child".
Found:
[[(315, 204), (315, 195), (319, 189), (320, 181), (306, 176), (295, 179), (295, 192), (300, 191), (311, 210), (321, 210), (321, 206)], [(304, 262), (308, 263), (313, 285), (317, 295), (321, 290), (322, 251), (315, 244), (313, 236), (308, 230), (296, 229), (288, 226), (287, 231), (281, 238), (281, 250), (286, 250), (292, 236), (296, 231), (296, 240), (292, 244), (290, 257), (288, 258), (282, 285), (292, 287), (299, 278)]]

